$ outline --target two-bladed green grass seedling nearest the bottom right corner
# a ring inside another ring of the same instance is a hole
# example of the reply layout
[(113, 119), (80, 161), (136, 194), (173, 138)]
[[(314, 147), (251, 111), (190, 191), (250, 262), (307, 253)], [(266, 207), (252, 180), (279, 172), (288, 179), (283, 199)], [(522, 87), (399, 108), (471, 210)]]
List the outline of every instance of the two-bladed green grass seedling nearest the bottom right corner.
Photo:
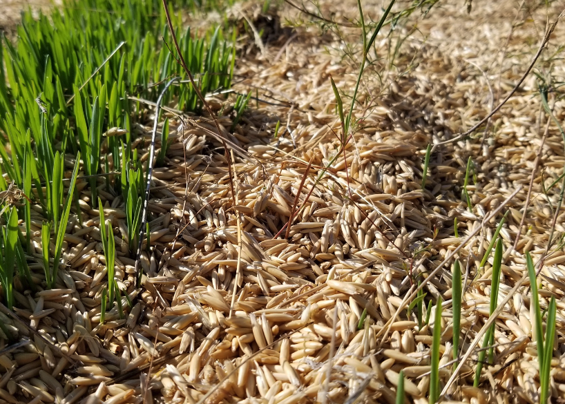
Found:
[(539, 307), (539, 297), (537, 294), (537, 278), (534, 264), (530, 253), (526, 253), (526, 267), (530, 278), (530, 305), (535, 311), (535, 338), (537, 343), (537, 361), (539, 363), (539, 403), (546, 404), (549, 398), (549, 383), (551, 358), (553, 357), (553, 340), (555, 339), (555, 297), (551, 297), (547, 309), (546, 336), (544, 340), (544, 330), (542, 324), (542, 309)]

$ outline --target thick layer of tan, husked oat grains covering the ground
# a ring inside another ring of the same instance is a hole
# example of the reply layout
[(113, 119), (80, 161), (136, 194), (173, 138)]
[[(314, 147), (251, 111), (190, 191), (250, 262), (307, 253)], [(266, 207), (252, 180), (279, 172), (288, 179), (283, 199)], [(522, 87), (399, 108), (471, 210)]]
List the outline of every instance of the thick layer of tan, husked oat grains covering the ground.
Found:
[[(409, 5), (401, 2), (394, 10)], [(381, 6), (367, 2), (367, 16), (378, 19)], [(428, 144), (466, 131), (506, 97), (537, 52), (546, 19), (555, 21), (563, 5), (475, 1), (468, 14), (462, 1), (439, 3), (427, 17), (416, 11), (388, 37), (379, 35), (346, 160), (329, 77), (348, 105), (361, 59), (358, 28), (336, 32), (287, 5), (278, 19), (269, 19), (259, 16), (260, 8), (243, 3), (229, 10), (232, 18), (247, 18), (265, 32), (262, 39), (252, 32), (240, 37), (235, 88), (260, 100), (251, 101), (233, 133), (224, 133), (239, 146), (236, 206), (221, 144), (207, 135), (209, 120), (191, 117), (184, 130), (171, 134), (168, 166), (155, 172), (152, 247), (142, 257), (147, 275), (140, 291), (133, 259), (125, 252), (117, 257), (120, 285), (139, 297), (133, 309), (123, 319), (113, 309), (99, 324), (106, 269), (98, 212), (88, 208), (82, 221), (73, 216), (60, 289), (35, 298), (17, 294), (20, 307), (27, 307), (17, 309), (18, 316), (51, 343), (2, 317), (33, 343), (0, 356), (8, 369), (0, 398), (394, 403), (403, 369), (408, 401), (428, 403), (432, 330), (438, 325), (430, 320), (420, 328), (414, 310), (404, 309), (405, 298), (414, 280), (425, 280), (425, 304), (443, 300), (443, 388), (452, 374), (454, 256), (467, 280), (460, 355), (470, 356), (443, 400), (537, 403), (528, 281), (509, 296), (526, 273), (524, 254), (530, 251), (540, 264), (542, 308), (550, 296), (557, 298), (551, 392), (555, 402), (564, 400), (562, 212), (554, 219), (561, 188), (542, 188), (563, 172), (564, 143), (541, 106), (536, 77), (528, 76), (470, 139), (437, 146), (421, 190)], [(320, 10), (335, 21), (357, 18), (349, 0), (322, 2)], [(549, 105), (559, 122), (565, 117), (559, 99), (564, 27), (558, 24), (535, 66), (550, 81)], [(223, 101), (211, 102), (219, 111)], [(233, 113), (229, 107), (221, 111), (220, 122), (229, 128)], [(140, 134), (149, 140), (148, 131), (140, 128)], [(321, 166), (338, 153), (316, 183)], [(462, 198), (468, 157), (471, 209)], [(109, 192), (104, 196), (117, 249), (126, 251), (122, 202)], [(506, 211), (498, 301), (509, 300), (496, 321), (493, 363), (483, 366), (479, 387), (472, 387), (477, 353), (471, 344), (488, 320), (491, 299), (492, 258), (483, 268), (479, 263)], [(484, 220), (491, 213), (495, 217)], [(285, 231), (274, 237), (291, 215), (288, 238)], [(367, 317), (358, 327), (364, 309)]]

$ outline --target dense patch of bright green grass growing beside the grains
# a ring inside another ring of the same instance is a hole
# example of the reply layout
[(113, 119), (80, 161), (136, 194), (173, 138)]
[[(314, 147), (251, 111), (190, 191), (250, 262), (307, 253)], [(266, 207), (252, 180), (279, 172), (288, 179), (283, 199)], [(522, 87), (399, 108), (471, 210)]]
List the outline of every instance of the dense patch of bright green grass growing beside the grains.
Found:
[[(221, 8), (224, 3), (205, 1), (205, 6)], [(175, 5), (180, 8), (196, 3), (181, 0)], [(171, 18), (175, 26), (182, 26), (180, 13), (171, 13)], [(180, 50), (198, 77), (198, 89), (186, 83), (175, 86), (164, 102), (198, 112), (202, 102), (197, 90), (206, 94), (229, 88), (235, 63), (234, 35), (225, 35), (220, 27), (179, 32)], [(12, 258), (4, 262), (6, 278), (0, 279), (8, 293), (13, 264), (34, 288), (24, 255), (24, 249), (28, 257), (32, 253), (31, 204), (41, 206), (44, 216), (41, 260), (46, 286), (52, 288), (57, 283), (71, 204), (77, 206), (77, 215), (81, 214), (77, 198), (73, 199), (79, 168), (89, 185), (80, 196), (90, 206), (94, 207), (101, 187), (117, 193), (121, 189), (128, 243), (130, 251), (135, 251), (144, 174), (137, 151), (132, 149), (135, 134), (131, 129), (135, 119), (145, 119), (146, 110), (144, 104), (130, 97), (151, 102), (161, 92), (165, 79), (185, 76), (169, 50), (166, 12), (156, 0), (129, 0), (125, 5), (119, 0), (84, 0), (80, 7), (74, 0), (64, 0), (50, 16), (40, 14), (36, 18), (30, 11), (24, 12), (17, 37), (17, 42), (6, 38), (0, 41), (0, 131), (6, 135), (0, 139), (0, 167), (6, 173), (0, 188), (6, 189), (6, 182), (13, 182), (28, 198), (23, 209), (10, 211), (11, 220), (25, 222), (26, 236), (21, 237), (24, 247), (8, 229), (9, 220), (3, 226), (3, 256), (15, 257), (11, 264)], [(166, 121), (157, 156), (160, 164), (166, 155), (168, 132)], [(72, 165), (70, 155), (77, 156), (71, 175), (66, 172), (66, 166)], [(117, 171), (122, 175), (99, 180), (102, 168), (106, 173)], [(65, 199), (63, 179), (68, 177), (71, 181)], [(10, 244), (8, 240), (16, 242)], [(110, 243), (109, 238), (106, 241)], [(108, 282), (108, 298), (115, 298), (121, 306), (119, 294), (115, 282)], [(6, 300), (10, 305), (13, 302), (8, 296)]]

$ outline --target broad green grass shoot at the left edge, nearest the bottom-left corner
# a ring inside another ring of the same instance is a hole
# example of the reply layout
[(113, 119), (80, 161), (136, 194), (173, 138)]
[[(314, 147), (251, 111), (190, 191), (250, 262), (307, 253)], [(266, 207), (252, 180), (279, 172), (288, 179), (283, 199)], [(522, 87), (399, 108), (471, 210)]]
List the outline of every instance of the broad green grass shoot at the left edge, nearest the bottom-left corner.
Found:
[(0, 265), (0, 282), (6, 297), (8, 309), (14, 305), (14, 264), (18, 240), (18, 213), (16, 208), (11, 208), (8, 217), (8, 227), (2, 227), (3, 256)]

